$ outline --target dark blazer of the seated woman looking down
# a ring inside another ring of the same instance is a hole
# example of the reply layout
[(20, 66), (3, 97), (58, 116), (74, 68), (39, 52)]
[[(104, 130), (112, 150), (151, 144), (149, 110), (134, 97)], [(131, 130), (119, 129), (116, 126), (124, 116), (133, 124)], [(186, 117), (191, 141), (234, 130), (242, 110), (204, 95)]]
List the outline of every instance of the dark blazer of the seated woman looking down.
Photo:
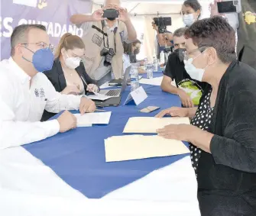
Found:
[[(96, 80), (91, 79), (89, 77), (89, 75), (86, 73), (86, 69), (82, 62), (76, 68), (76, 72), (79, 74), (79, 76), (82, 76), (83, 79), (86, 80), (87, 84), (91, 84), (91, 83), (96, 84)], [(59, 58), (54, 60), (52, 69), (45, 71), (44, 74), (47, 76), (47, 78), (53, 84), (53, 86), (57, 92), (62, 92), (63, 89), (66, 88), (66, 79), (65, 79)], [(87, 87), (86, 84), (83, 83), (83, 86), (86, 91), (86, 87)], [(55, 113), (50, 113), (50, 112), (44, 110), (44, 114), (43, 114), (43, 117), (41, 118), (41, 121), (47, 121), (49, 118), (53, 117), (53, 115), (55, 115)]]

